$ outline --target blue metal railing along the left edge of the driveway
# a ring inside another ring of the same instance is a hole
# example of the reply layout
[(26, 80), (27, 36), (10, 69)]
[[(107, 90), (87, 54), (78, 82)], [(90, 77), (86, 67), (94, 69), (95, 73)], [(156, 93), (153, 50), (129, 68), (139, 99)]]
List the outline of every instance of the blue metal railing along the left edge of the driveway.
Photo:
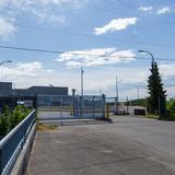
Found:
[(35, 122), (35, 110), (0, 140), (0, 174), (10, 174)]

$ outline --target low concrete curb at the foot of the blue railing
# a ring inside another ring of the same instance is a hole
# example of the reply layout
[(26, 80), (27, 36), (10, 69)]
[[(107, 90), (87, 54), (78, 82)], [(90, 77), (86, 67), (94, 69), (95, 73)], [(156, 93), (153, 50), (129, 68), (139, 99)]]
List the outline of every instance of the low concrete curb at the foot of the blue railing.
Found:
[(11, 173), (12, 175), (24, 175), (25, 174), (27, 163), (28, 163), (28, 158), (31, 154), (34, 139), (35, 139), (36, 130), (37, 130), (37, 128), (36, 128), (36, 122), (35, 122), (31, 129), (28, 138), (25, 142), (25, 145), (24, 145), (23, 150), (21, 151), (21, 153), (16, 160), (16, 163), (14, 164), (14, 167)]

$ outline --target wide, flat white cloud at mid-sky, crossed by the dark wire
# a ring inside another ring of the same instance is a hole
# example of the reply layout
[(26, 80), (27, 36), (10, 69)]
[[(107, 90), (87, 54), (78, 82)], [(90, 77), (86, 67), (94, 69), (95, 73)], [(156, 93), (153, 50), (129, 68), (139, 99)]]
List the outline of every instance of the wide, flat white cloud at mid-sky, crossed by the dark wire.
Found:
[(133, 61), (136, 55), (132, 50), (117, 50), (116, 48), (93, 48), (68, 51), (61, 54), (56, 60), (59, 62), (65, 62), (67, 67), (92, 67)]

